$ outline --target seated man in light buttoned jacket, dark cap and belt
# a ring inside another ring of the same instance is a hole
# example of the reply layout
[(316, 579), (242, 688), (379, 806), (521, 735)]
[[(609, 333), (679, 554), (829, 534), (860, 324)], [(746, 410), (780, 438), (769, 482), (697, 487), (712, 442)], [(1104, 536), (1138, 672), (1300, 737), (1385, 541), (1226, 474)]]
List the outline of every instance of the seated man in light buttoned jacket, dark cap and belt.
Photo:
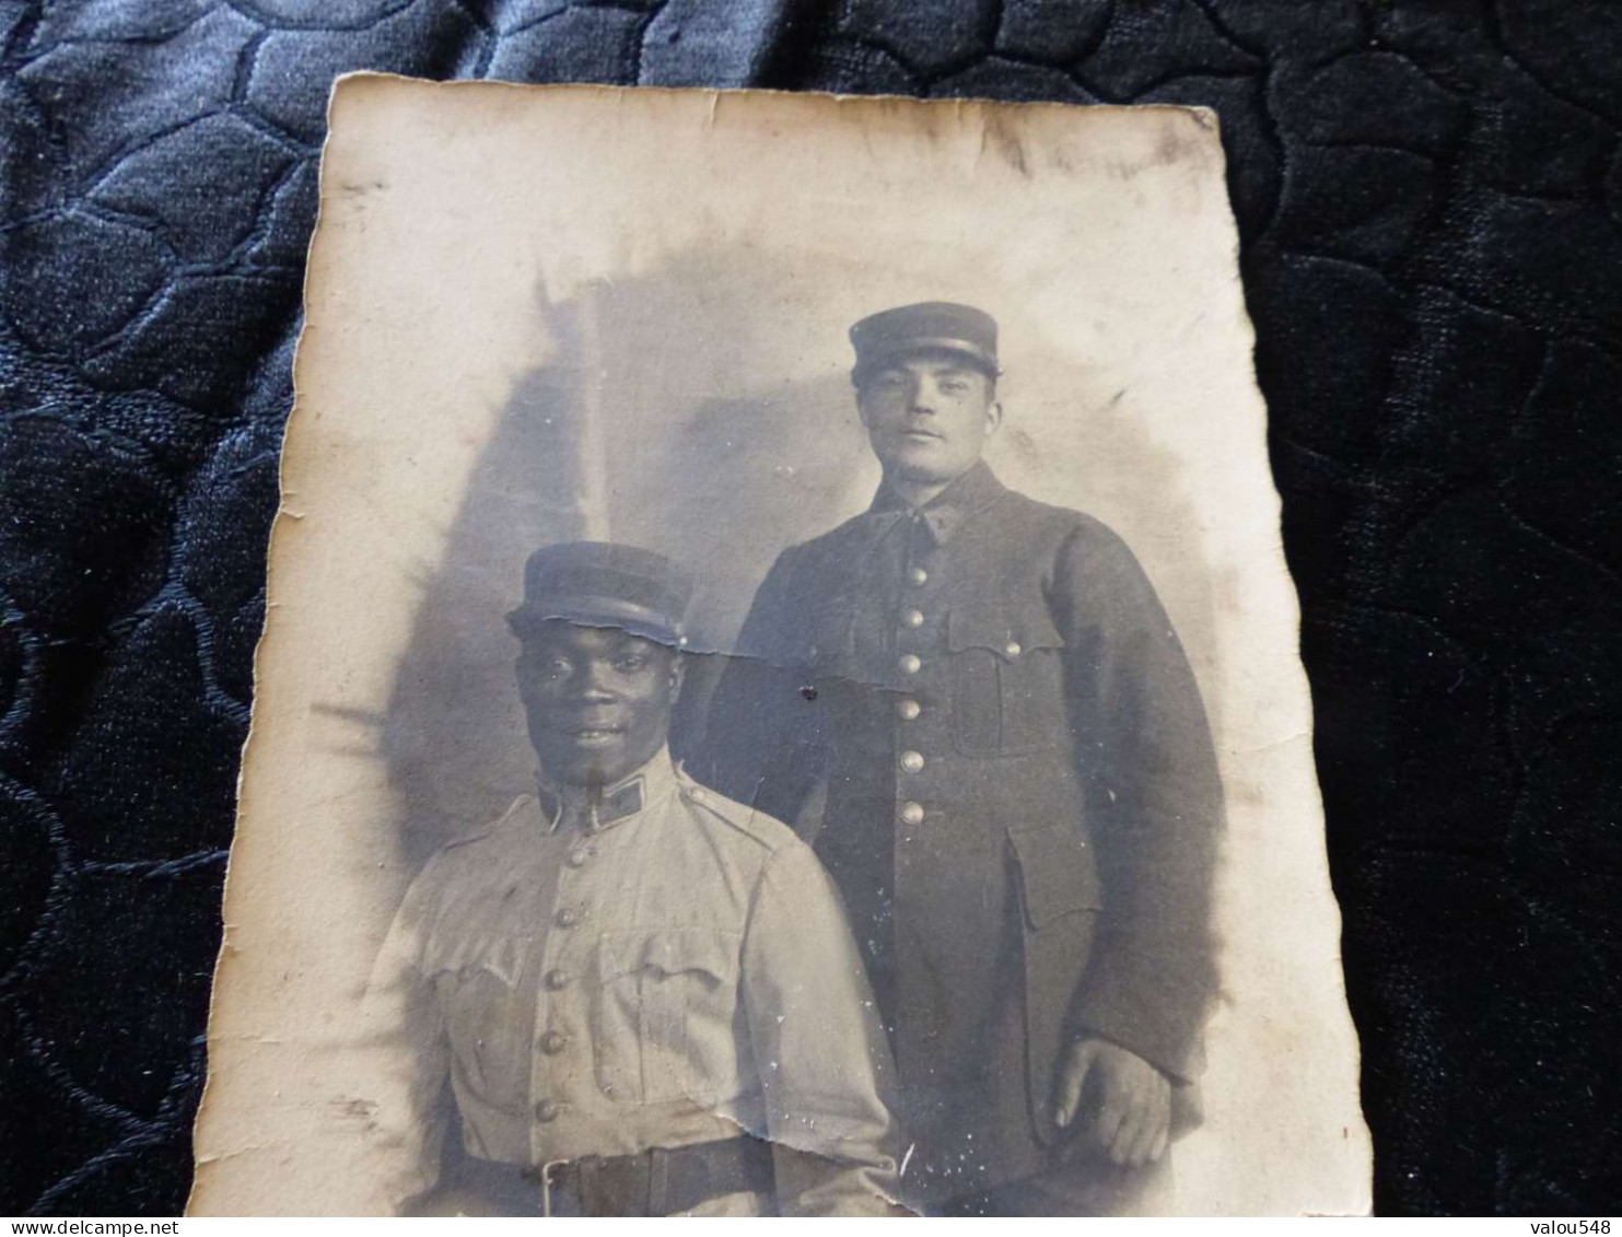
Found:
[(887, 1049), (839, 895), (668, 755), (688, 593), (631, 546), (526, 566), (508, 623), (537, 794), (428, 862), (371, 984), (393, 1078), (371, 1136), (402, 1203), (890, 1211)]

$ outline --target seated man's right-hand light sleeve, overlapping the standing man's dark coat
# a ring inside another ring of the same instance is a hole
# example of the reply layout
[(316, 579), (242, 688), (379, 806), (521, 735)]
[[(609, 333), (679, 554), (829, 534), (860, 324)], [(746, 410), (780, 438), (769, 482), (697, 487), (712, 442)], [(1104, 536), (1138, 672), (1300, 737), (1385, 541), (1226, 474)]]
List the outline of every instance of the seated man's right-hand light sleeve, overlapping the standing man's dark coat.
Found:
[(808, 846), (766, 866), (743, 965), (782, 1213), (900, 1214), (889, 1044), (839, 893)]

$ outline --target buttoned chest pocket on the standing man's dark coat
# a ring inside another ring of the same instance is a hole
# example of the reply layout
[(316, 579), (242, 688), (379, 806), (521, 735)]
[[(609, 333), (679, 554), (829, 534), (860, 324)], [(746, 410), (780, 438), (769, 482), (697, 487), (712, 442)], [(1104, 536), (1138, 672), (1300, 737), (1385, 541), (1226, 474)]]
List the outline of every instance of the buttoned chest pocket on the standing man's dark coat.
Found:
[(946, 647), (963, 755), (1020, 755), (1066, 741), (1064, 640), (1041, 601), (957, 603), (946, 616)]

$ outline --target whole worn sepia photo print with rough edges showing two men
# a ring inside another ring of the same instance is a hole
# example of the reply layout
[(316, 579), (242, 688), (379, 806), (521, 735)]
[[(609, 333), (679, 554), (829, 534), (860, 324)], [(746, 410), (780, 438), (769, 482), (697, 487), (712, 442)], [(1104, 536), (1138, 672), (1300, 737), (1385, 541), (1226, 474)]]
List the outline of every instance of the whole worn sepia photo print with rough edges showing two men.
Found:
[(1364, 1213), (1216, 122), (344, 79), (195, 1214)]

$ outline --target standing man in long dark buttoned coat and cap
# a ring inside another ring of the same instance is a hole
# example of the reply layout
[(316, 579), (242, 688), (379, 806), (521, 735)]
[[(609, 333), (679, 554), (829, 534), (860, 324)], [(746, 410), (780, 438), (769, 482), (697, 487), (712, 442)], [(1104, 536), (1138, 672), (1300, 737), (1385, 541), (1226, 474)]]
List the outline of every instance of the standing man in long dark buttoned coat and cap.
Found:
[(1215, 989), (1199, 691), (1131, 550), (981, 460), (996, 323), (908, 305), (850, 339), (884, 482), (766, 577), (707, 768), (814, 837), (845, 898), (916, 1141), (903, 1196), (1126, 1209), (1192, 1124)]

